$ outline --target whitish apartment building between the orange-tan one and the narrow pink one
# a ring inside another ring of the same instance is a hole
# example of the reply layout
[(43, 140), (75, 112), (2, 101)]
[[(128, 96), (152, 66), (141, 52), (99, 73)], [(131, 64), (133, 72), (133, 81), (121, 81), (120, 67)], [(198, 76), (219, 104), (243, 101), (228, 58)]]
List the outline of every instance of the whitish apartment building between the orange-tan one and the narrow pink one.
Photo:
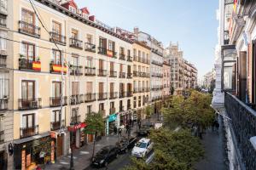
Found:
[(163, 45), (148, 33), (134, 28), (137, 41), (144, 42), (151, 48), (150, 53), (150, 102), (154, 104), (154, 113), (160, 111), (163, 89)]

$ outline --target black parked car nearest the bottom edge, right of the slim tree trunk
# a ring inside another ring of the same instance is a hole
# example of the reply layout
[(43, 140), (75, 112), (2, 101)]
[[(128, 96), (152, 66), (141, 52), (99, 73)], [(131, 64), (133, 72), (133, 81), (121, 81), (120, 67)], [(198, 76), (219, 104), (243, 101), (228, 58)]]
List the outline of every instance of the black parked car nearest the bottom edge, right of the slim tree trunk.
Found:
[(108, 145), (99, 150), (92, 159), (92, 165), (96, 167), (107, 167), (110, 161), (119, 156), (119, 148), (115, 145)]

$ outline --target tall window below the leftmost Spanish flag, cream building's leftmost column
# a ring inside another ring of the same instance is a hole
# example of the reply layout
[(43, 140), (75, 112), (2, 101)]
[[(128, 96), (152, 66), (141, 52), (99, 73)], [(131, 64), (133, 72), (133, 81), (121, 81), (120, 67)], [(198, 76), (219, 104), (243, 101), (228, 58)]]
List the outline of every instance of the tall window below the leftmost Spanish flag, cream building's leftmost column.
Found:
[(35, 81), (23, 80), (21, 82), (21, 97), (22, 99), (35, 98)]

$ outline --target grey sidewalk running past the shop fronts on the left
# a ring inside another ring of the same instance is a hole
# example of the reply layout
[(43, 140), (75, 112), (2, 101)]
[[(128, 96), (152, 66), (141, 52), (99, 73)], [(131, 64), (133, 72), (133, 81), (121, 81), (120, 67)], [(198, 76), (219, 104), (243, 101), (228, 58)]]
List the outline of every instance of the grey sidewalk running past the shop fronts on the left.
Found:
[[(127, 137), (125, 130), (123, 130), (122, 135)], [(131, 127), (131, 136), (137, 135), (137, 124), (135, 123), (133, 127)], [(95, 146), (95, 153), (98, 150), (101, 150), (102, 147), (107, 146), (109, 144), (115, 144), (119, 140), (117, 135), (109, 135), (102, 137), (101, 140), (96, 142)], [(74, 169), (75, 170), (82, 170), (86, 167), (90, 166), (91, 162), (91, 154), (93, 150), (93, 143), (85, 144), (83, 147), (79, 148), (78, 150), (73, 151), (73, 162), (74, 162)], [(51, 164), (45, 167), (47, 170), (66, 170), (70, 167), (70, 155), (62, 156), (55, 164)]]

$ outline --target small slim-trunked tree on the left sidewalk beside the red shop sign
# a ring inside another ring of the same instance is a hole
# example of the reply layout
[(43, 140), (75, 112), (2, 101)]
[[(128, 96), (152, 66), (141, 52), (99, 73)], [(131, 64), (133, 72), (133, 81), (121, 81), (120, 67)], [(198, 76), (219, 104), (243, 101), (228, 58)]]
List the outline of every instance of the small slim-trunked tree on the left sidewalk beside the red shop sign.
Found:
[(99, 113), (92, 112), (86, 116), (84, 122), (87, 125), (86, 127), (84, 127), (84, 133), (93, 134), (95, 136), (93, 141), (93, 150), (92, 150), (92, 158), (93, 158), (94, 151), (95, 151), (95, 144), (96, 144), (96, 136), (98, 133), (102, 133), (104, 129), (103, 115), (101, 112)]

